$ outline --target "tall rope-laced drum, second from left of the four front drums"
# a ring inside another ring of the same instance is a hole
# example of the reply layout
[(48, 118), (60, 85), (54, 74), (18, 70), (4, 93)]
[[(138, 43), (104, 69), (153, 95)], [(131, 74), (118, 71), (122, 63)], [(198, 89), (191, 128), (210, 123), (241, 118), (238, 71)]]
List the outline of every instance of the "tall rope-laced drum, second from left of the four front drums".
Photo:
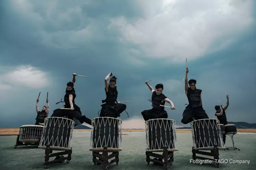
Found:
[(91, 120), (90, 151), (122, 151), (122, 120), (111, 117), (98, 117)]

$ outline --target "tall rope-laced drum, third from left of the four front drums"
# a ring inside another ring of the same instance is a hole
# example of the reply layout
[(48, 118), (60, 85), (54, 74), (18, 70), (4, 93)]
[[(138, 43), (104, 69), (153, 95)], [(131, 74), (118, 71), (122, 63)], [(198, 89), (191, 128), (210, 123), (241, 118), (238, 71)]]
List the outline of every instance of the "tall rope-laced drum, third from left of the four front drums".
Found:
[(150, 119), (146, 126), (146, 151), (163, 152), (166, 145), (168, 151), (177, 151), (175, 120)]

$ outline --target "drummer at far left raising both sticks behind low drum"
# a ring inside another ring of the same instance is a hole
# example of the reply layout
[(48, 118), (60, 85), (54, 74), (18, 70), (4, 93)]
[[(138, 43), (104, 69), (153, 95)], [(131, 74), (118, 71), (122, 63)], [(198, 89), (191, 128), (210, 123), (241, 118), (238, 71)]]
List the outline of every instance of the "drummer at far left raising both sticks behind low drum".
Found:
[(35, 118), (35, 125), (44, 125), (44, 118), (46, 118), (49, 114), (49, 102), (47, 99), (46, 106), (43, 106), (41, 111), (39, 111), (38, 102), (39, 99), (37, 99), (37, 103), (35, 104), (35, 109), (37, 112), (37, 117)]

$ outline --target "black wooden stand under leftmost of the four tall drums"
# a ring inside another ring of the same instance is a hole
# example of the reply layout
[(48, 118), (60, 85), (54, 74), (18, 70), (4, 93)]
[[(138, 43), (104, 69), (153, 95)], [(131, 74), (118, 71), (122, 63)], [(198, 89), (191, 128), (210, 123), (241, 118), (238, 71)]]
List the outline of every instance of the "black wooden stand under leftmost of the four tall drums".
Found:
[[(55, 149), (52, 149), (49, 144), (46, 145), (44, 168), (47, 168), (48, 165), (52, 165), (54, 163), (62, 163), (62, 162), (64, 162), (64, 160), (67, 160), (67, 163), (69, 163), (69, 161), (71, 160), (72, 148), (71, 148), (71, 150), (57, 152), (57, 153), (53, 153), (53, 150), (55, 150)], [(62, 155), (68, 155), (68, 156), (61, 157)], [(54, 160), (49, 161), (50, 157), (55, 157), (55, 156), (56, 156), (56, 158)]]

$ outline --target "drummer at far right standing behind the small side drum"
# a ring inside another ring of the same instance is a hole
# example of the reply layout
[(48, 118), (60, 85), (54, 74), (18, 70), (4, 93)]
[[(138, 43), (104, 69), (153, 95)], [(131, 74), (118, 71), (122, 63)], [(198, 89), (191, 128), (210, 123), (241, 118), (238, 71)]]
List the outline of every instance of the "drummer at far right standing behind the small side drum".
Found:
[[(219, 123), (220, 124), (223, 124), (223, 125), (226, 125), (228, 124), (227, 122), (227, 117), (226, 117), (226, 109), (228, 108), (228, 105), (229, 105), (229, 98), (228, 98), (228, 95), (226, 95), (226, 98), (227, 98), (227, 104), (222, 107), (219, 106), (219, 105), (216, 105), (215, 106), (215, 116), (217, 117), (217, 119), (219, 120)], [(226, 134), (223, 134), (223, 142), (224, 142), (224, 145), (226, 143)]]

